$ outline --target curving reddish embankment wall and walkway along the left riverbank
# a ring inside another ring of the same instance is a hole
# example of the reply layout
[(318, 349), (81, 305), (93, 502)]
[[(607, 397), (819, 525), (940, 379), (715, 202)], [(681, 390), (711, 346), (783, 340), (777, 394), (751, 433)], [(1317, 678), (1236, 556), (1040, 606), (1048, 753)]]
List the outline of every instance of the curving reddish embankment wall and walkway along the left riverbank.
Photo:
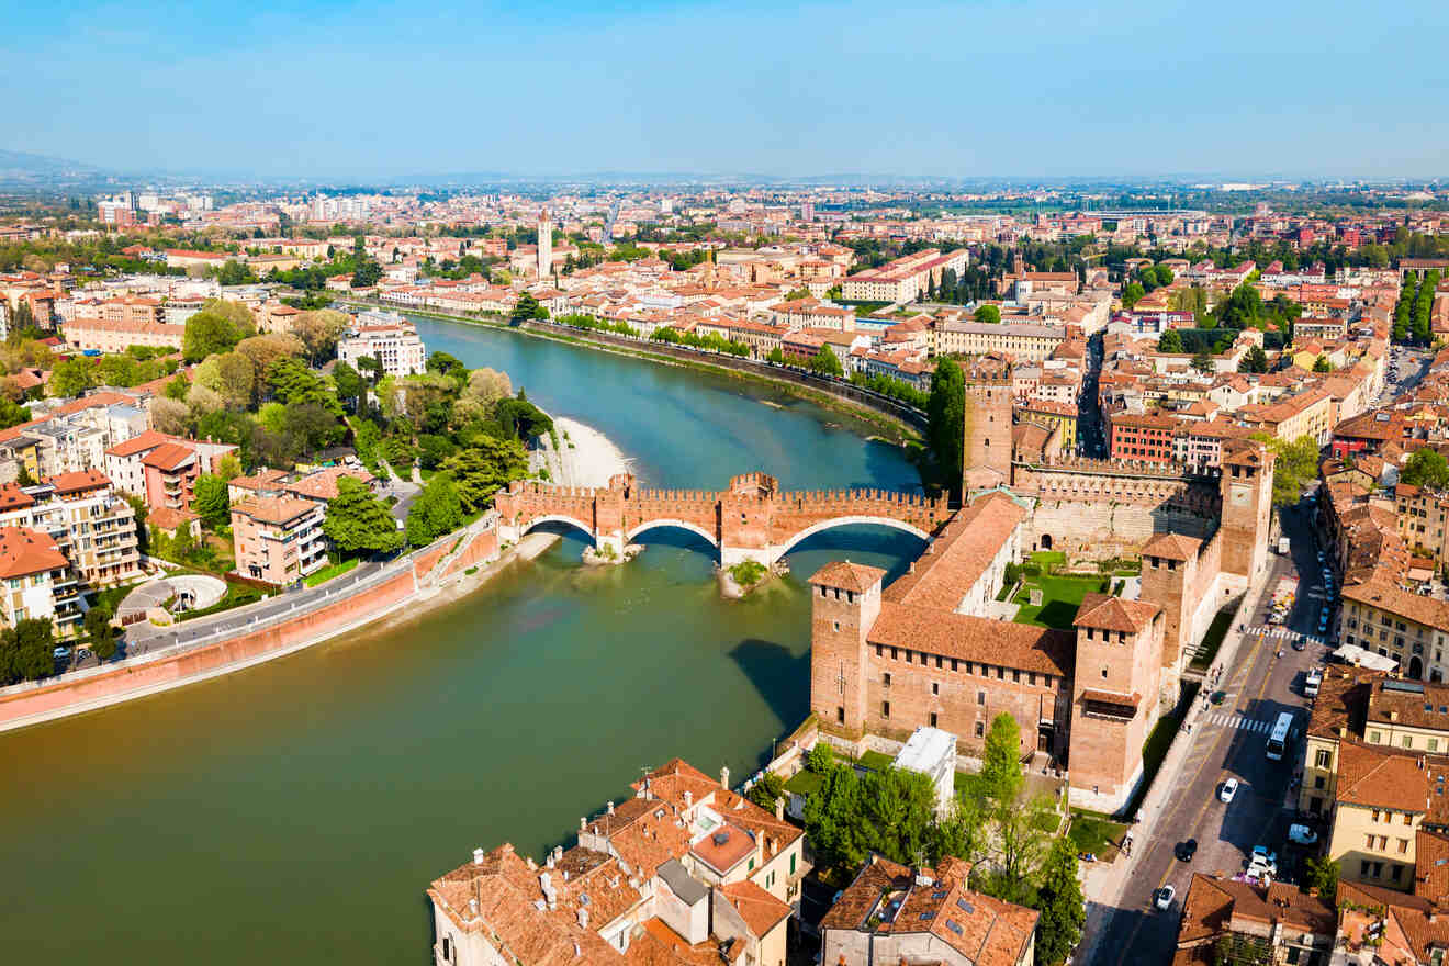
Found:
[[(458, 584), (478, 584), (514, 558), (509, 553), (500, 559), (498, 552), (497, 516), (490, 513), (396, 560), (364, 563), (314, 588), (180, 623), (148, 637), (142, 653), (0, 688), (0, 731), (241, 671), (358, 630), (404, 605), (420, 613), (452, 600)], [(488, 563), (494, 568), (484, 571)]]

